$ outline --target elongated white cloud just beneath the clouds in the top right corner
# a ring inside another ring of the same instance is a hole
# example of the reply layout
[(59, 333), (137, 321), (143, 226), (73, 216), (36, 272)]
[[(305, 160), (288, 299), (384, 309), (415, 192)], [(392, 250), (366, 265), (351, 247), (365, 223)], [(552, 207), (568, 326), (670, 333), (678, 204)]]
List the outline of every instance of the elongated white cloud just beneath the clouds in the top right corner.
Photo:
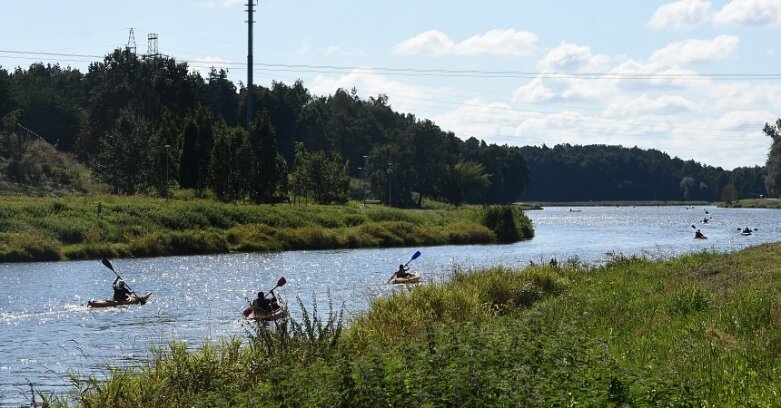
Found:
[(720, 35), (712, 40), (686, 40), (654, 51), (651, 60), (667, 64), (722, 60), (729, 56), (739, 43), (740, 38), (733, 35)]

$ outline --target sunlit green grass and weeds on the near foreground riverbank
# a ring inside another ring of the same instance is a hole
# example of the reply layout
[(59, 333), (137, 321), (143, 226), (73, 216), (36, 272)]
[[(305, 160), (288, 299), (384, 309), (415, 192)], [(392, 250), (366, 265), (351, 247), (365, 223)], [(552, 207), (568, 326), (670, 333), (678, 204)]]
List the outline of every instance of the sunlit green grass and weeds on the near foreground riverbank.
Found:
[(85, 407), (775, 406), (780, 294), (779, 243), (496, 268), (76, 388)]

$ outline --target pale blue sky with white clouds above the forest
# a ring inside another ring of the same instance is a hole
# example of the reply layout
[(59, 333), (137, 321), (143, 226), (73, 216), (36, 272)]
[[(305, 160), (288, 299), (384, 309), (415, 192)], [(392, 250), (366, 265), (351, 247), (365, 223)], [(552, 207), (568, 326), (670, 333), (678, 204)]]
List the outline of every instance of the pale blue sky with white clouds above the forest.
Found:
[[(4, 1), (0, 66), (86, 72), (147, 36), (246, 82), (246, 1)], [(618, 144), (764, 165), (781, 117), (781, 0), (260, 0), (254, 82), (355, 88), (466, 139)], [(94, 57), (93, 57), (94, 56)]]

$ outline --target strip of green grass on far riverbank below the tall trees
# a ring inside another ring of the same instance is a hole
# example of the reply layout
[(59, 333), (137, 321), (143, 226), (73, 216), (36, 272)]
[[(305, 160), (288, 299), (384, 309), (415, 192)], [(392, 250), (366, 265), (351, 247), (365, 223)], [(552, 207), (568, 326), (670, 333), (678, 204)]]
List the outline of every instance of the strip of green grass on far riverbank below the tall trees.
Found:
[(0, 197), (0, 262), (488, 244), (531, 238), (531, 221), (520, 210), (505, 208), (513, 213), (517, 231), (509, 238), (502, 230), (506, 220), (497, 223), (486, 217), (496, 209), (480, 207), (402, 210), (358, 203)]

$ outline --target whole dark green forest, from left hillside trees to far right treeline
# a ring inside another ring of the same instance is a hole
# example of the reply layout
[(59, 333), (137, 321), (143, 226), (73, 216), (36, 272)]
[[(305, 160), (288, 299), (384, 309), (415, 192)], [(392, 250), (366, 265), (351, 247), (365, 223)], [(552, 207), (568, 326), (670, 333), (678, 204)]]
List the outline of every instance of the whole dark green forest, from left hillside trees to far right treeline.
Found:
[[(51, 170), (31, 161), (29, 141), (37, 140), (83, 163), (113, 193), (181, 188), (226, 202), (354, 198), (413, 207), (424, 197), (461, 204), (766, 194), (764, 167), (727, 171), (620, 146), (487, 144), (396, 112), (385, 95), (316, 96), (300, 81), (251, 94), (257, 114), (247, 126), (246, 87), (223, 70), (204, 78), (166, 56), (116, 49), (86, 73), (0, 67), (0, 181), (34, 183)], [(773, 137), (774, 129), (765, 132)]]

